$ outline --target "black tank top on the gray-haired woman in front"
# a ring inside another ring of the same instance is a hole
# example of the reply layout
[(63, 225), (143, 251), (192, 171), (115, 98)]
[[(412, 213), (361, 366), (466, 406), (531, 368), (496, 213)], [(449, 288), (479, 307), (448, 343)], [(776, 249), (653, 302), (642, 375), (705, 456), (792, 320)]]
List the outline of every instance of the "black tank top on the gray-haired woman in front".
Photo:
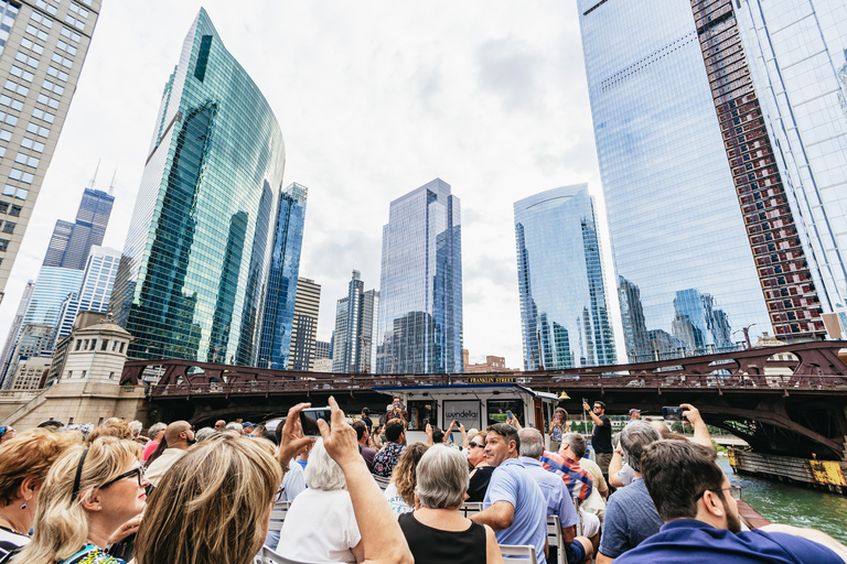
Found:
[(485, 564), (485, 528), (472, 523), (464, 531), (441, 531), (427, 527), (415, 513), (398, 518), (415, 564)]

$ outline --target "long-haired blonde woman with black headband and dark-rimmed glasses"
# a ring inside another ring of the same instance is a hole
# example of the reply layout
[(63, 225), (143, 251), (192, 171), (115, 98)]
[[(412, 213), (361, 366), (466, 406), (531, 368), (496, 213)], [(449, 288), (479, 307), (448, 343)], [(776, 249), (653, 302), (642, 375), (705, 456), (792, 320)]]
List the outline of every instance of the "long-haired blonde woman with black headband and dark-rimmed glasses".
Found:
[(32, 541), (12, 563), (122, 564), (105, 550), (112, 535), (144, 509), (150, 482), (140, 454), (137, 443), (111, 436), (67, 449), (39, 492)]

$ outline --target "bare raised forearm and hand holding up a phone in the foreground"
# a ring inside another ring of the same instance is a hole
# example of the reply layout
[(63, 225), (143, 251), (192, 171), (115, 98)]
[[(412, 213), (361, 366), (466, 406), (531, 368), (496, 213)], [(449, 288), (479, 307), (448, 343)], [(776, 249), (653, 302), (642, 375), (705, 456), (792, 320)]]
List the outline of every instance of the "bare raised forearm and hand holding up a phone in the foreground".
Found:
[(322, 420), (318, 422), (318, 426), (321, 430), (326, 453), (344, 471), (350, 498), (353, 501), (353, 512), (362, 533), (364, 563), (412, 564), (414, 558), (400, 525), (392, 513), (388, 501), (382, 495), (379, 486), (367, 471), (364, 458), (358, 454), (355, 430), (344, 421), (344, 412), (339, 409), (334, 398), (330, 398), (330, 408), (332, 409), (332, 429)]

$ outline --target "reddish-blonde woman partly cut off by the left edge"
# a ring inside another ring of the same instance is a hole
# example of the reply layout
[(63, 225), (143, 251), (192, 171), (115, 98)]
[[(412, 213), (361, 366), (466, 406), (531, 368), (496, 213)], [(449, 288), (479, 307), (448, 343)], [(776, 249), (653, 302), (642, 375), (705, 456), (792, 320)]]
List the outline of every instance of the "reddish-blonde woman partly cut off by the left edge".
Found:
[(37, 494), (47, 470), (78, 444), (72, 433), (36, 429), (0, 447), (0, 557), (30, 542)]

